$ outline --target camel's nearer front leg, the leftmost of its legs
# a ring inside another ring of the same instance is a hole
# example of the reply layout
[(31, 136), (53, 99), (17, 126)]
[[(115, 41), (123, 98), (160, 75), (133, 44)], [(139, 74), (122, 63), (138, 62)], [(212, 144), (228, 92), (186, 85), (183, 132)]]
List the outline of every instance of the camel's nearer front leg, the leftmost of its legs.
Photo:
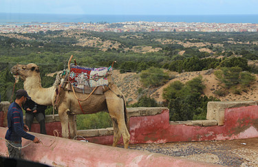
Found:
[(62, 126), (62, 137), (68, 138), (69, 137), (69, 129), (68, 129), (68, 115), (67, 115), (67, 108), (65, 106), (58, 107), (58, 115), (61, 121)]

